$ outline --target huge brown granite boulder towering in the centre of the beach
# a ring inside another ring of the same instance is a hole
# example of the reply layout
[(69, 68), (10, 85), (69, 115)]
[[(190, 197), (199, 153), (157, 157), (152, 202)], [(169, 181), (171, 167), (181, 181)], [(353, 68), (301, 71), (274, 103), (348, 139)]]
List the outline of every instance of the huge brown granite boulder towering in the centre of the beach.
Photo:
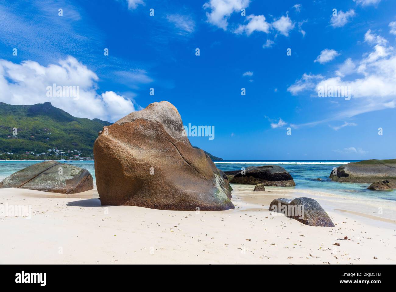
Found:
[(93, 146), (102, 205), (164, 210), (234, 209), (229, 184), (193, 148), (177, 109), (154, 102), (99, 132)]

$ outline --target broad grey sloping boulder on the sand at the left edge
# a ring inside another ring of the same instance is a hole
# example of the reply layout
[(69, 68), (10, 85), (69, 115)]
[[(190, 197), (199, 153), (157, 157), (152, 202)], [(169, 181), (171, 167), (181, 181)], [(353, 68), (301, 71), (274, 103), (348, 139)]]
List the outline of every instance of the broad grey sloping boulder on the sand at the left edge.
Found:
[(26, 188), (60, 194), (76, 194), (93, 189), (88, 170), (58, 161), (36, 163), (6, 177), (0, 188)]

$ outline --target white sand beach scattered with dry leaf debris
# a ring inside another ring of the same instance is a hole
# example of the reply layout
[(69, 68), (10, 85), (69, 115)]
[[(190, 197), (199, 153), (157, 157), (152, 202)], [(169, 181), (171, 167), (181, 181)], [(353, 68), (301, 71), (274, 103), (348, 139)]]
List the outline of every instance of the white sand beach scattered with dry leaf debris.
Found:
[[(294, 188), (232, 184), (235, 209), (164, 211), (101, 206), (75, 195), (0, 189), (2, 206), (31, 205), (31, 218), (1, 216), (1, 264), (395, 264), (394, 202)], [(274, 198), (317, 200), (334, 228), (268, 211)], [(383, 214), (378, 214), (378, 208)], [(344, 239), (347, 237), (348, 239)], [(333, 245), (333, 244), (339, 244)]]

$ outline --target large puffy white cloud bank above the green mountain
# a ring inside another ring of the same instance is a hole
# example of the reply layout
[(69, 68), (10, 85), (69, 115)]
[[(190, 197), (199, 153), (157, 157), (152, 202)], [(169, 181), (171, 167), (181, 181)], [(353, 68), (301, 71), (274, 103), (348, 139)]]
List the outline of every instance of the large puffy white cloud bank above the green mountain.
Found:
[[(97, 75), (69, 56), (47, 67), (34, 61), (20, 64), (0, 59), (0, 102), (37, 104), (51, 102), (75, 117), (115, 121), (135, 111), (133, 102), (112, 91), (97, 93)], [(79, 96), (47, 97), (47, 87), (79, 86)]]

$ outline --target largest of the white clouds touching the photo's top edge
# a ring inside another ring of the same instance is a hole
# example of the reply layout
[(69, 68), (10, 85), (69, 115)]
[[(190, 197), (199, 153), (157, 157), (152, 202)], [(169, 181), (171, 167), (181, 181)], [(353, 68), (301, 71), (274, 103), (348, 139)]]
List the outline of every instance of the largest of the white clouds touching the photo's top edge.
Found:
[(204, 4), (208, 22), (221, 29), (226, 30), (228, 26), (228, 18), (234, 12), (240, 12), (242, 8), (249, 6), (250, 0), (210, 0)]

